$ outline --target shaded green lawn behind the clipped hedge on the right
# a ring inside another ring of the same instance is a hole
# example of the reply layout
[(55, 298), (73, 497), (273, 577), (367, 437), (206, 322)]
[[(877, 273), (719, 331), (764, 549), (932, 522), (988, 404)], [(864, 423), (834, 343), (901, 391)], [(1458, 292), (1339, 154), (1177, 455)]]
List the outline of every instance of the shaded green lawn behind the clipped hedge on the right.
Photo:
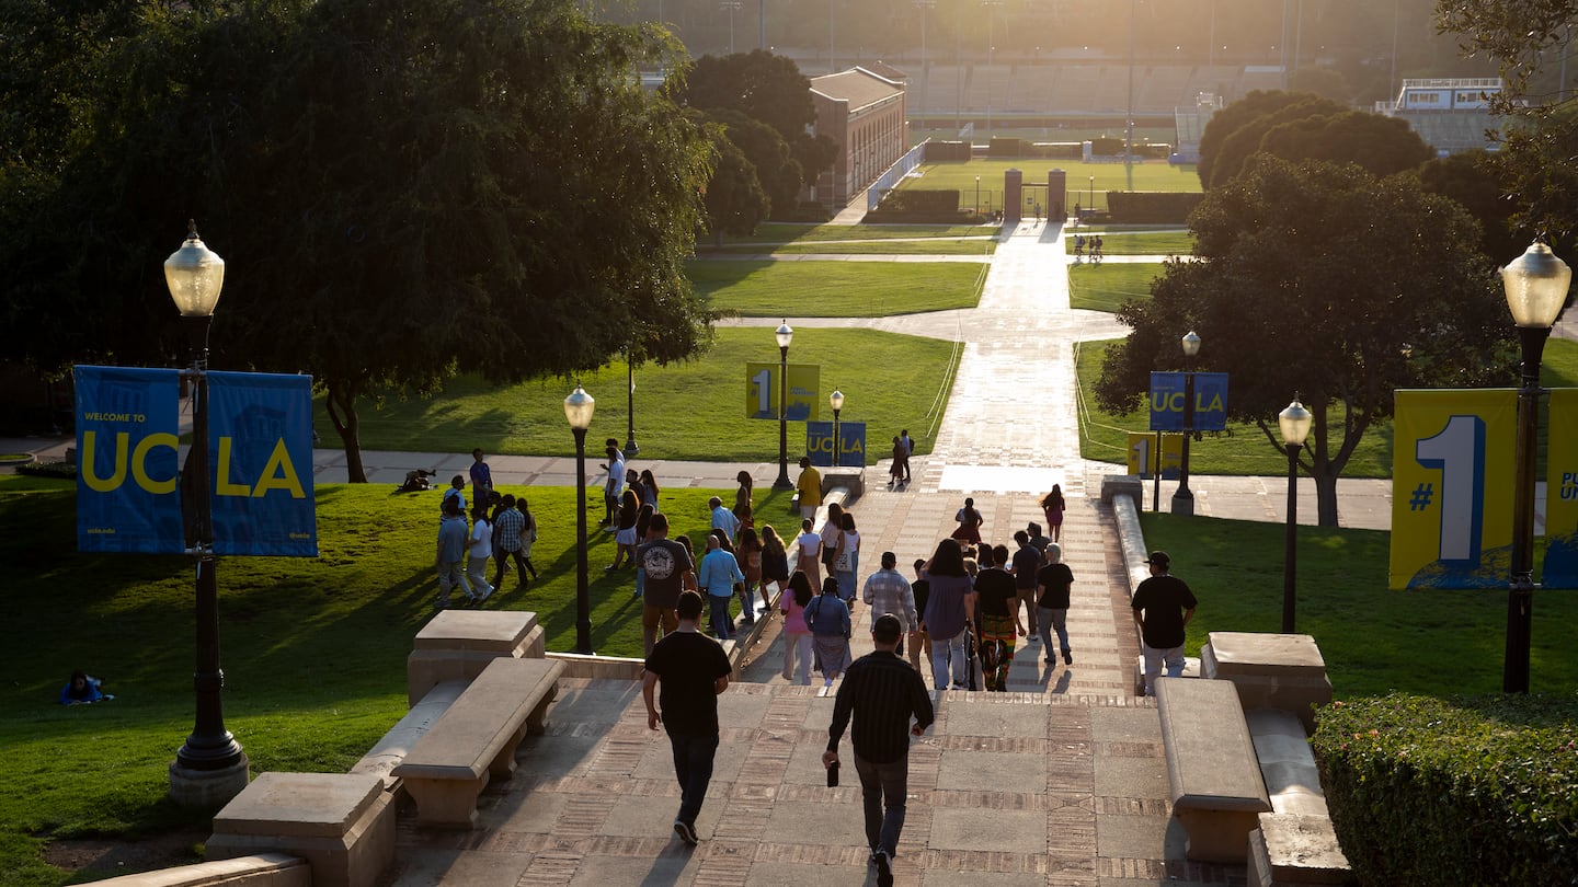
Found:
[[(1281, 631), (1283, 524), (1149, 511), (1139, 524), (1199, 598), (1188, 655), (1207, 631)], [(1389, 545), (1385, 532), (1299, 529), (1296, 628), (1319, 644), (1337, 696), (1501, 691), (1507, 593), (1389, 592)], [(1531, 688), (1578, 693), (1578, 649), (1567, 641), (1578, 595), (1537, 593), (1532, 614)]]

